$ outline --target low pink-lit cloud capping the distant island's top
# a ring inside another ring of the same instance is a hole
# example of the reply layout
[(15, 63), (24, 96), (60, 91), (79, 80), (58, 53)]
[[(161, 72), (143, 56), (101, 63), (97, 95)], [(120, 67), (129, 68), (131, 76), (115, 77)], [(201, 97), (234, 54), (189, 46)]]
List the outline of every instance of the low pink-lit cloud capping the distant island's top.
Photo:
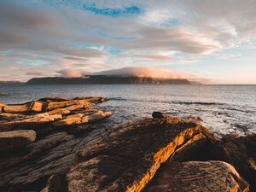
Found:
[(169, 70), (156, 67), (124, 67), (94, 73), (96, 75), (109, 76), (135, 76), (140, 78), (155, 78), (155, 79), (188, 79), (189, 74), (175, 73)]

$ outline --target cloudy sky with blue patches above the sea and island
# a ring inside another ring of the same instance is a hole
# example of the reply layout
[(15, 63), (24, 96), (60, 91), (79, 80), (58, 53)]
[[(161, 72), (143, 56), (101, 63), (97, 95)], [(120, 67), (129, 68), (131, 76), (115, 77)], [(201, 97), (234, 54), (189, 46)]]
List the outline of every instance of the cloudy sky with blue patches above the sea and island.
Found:
[(256, 84), (255, 0), (0, 0), (0, 80)]

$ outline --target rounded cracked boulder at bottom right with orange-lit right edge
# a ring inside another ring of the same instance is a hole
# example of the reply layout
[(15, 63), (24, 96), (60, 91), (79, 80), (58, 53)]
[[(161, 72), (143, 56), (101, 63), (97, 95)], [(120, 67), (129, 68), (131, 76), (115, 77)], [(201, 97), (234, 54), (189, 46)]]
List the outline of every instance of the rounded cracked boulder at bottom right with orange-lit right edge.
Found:
[(247, 192), (249, 185), (224, 161), (168, 161), (144, 191)]

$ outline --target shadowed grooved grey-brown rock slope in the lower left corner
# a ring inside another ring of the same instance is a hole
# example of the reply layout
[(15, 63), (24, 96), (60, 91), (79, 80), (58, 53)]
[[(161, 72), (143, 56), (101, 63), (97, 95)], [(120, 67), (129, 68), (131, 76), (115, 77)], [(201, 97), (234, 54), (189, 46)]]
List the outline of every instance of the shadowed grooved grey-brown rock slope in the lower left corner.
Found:
[[(27, 145), (18, 154), (17, 152), (11, 152), (11, 156), (4, 154), (0, 158), (0, 191), (44, 189), (49, 177), (64, 174), (79, 163), (80, 148), (90, 149), (107, 135), (108, 131), (105, 129), (95, 129), (90, 135), (83, 137), (74, 137), (67, 131), (61, 131)], [(57, 181), (58, 179), (55, 180)], [(60, 184), (66, 186), (67, 182), (64, 179)]]

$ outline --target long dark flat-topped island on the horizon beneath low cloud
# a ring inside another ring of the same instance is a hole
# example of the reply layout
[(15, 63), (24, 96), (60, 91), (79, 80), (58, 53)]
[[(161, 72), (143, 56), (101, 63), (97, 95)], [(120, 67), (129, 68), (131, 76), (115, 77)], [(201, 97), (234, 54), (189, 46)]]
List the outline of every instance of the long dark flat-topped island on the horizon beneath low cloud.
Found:
[(26, 84), (191, 84), (188, 79), (152, 79), (124, 76), (91, 75), (84, 78), (33, 78)]

